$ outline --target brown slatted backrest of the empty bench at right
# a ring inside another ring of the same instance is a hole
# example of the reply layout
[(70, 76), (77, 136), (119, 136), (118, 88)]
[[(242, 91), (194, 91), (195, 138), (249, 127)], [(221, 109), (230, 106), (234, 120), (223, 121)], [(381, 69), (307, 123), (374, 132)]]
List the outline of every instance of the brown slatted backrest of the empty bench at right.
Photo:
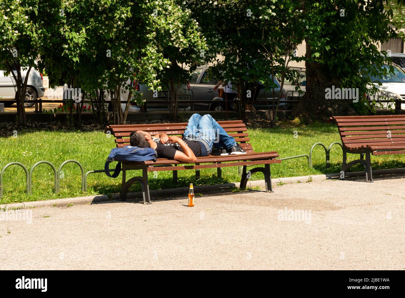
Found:
[[(405, 115), (334, 116), (342, 143), (348, 147), (405, 142)], [(370, 140), (373, 139), (373, 140)]]

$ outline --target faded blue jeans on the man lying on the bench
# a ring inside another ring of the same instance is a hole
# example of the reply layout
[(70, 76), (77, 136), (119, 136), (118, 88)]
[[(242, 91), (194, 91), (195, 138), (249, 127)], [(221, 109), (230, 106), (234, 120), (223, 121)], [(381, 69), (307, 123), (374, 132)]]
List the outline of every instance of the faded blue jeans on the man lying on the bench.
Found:
[(230, 149), (236, 144), (235, 139), (228, 135), (211, 115), (201, 116), (197, 113), (188, 120), (183, 138), (204, 141), (208, 145), (208, 154), (211, 154), (213, 147)]

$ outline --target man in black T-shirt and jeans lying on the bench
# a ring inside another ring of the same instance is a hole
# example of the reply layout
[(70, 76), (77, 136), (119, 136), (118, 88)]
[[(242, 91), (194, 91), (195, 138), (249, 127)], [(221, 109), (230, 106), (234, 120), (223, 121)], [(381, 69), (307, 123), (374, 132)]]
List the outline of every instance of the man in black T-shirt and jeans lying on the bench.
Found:
[(130, 144), (142, 148), (151, 147), (158, 153), (158, 158), (188, 163), (196, 162), (196, 156), (210, 155), (213, 147), (219, 149), (221, 155), (246, 154), (211, 115), (192, 115), (184, 130), (183, 139), (165, 133), (154, 138), (149, 132), (138, 130), (131, 132)]

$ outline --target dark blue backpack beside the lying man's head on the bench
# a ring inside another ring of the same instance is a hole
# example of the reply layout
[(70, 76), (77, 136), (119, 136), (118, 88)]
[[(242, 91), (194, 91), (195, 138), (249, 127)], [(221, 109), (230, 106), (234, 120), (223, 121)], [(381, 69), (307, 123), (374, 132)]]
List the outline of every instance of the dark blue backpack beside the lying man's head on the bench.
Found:
[[(111, 149), (110, 154), (108, 155), (107, 161), (104, 165), (104, 172), (108, 177), (116, 178), (121, 171), (121, 162), (128, 161), (128, 162), (144, 162), (146, 160), (153, 160), (156, 162), (156, 153), (155, 149), (153, 148), (141, 148), (141, 147), (133, 147), (133, 146), (126, 146), (122, 148), (113, 148)], [(115, 160), (119, 160), (113, 175), (110, 174), (109, 164)]]

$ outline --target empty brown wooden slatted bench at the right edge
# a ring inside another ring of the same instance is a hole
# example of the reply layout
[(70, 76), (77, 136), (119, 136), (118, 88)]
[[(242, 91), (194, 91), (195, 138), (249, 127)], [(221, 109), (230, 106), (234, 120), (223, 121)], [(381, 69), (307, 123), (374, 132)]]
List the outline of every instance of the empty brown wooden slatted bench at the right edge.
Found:
[[(343, 145), (342, 171), (354, 164), (364, 164), (367, 182), (373, 182), (371, 154), (405, 153), (405, 115), (334, 116)], [(346, 163), (347, 153), (360, 154), (360, 159)], [(364, 160), (364, 155), (366, 159)]]

